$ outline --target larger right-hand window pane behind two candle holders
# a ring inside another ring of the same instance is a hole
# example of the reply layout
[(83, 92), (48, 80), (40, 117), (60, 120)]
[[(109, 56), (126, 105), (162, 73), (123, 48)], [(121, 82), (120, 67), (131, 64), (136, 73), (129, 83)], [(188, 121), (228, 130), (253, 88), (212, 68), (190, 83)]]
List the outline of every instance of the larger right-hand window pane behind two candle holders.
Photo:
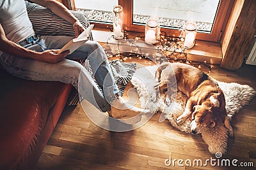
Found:
[(133, 0), (133, 24), (145, 24), (149, 17), (158, 17), (161, 25), (179, 29), (188, 20), (198, 30), (211, 32), (218, 0)]

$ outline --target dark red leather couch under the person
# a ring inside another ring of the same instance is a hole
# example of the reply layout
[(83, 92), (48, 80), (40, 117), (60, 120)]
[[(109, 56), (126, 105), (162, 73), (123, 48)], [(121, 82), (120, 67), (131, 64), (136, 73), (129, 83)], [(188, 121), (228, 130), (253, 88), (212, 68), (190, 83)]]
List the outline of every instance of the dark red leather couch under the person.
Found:
[(0, 169), (33, 169), (71, 85), (16, 78), (0, 69)]

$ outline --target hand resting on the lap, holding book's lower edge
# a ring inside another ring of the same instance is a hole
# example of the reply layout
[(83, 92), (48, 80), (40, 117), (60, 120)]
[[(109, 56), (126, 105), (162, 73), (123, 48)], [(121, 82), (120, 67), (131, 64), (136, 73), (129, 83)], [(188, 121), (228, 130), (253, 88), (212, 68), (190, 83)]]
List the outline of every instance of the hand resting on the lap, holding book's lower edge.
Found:
[(62, 53), (58, 53), (58, 51), (59, 50), (45, 50), (44, 52), (41, 53), (40, 59), (37, 59), (37, 60), (55, 64), (65, 59), (65, 57), (69, 53), (69, 50)]

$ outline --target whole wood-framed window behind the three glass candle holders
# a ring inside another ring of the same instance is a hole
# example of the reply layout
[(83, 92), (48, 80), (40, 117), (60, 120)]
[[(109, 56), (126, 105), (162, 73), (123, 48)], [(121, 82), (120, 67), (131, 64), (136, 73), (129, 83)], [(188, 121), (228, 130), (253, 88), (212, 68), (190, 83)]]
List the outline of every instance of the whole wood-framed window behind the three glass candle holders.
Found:
[[(66, 0), (68, 1), (68, 0)], [(198, 26), (196, 39), (220, 41), (234, 0), (69, 0), (76, 10), (84, 10), (90, 22), (112, 23), (113, 6), (124, 8), (125, 30), (144, 32), (149, 17), (158, 17), (161, 31), (179, 36), (182, 25), (193, 20)], [(74, 8), (72, 8), (74, 10)]]

